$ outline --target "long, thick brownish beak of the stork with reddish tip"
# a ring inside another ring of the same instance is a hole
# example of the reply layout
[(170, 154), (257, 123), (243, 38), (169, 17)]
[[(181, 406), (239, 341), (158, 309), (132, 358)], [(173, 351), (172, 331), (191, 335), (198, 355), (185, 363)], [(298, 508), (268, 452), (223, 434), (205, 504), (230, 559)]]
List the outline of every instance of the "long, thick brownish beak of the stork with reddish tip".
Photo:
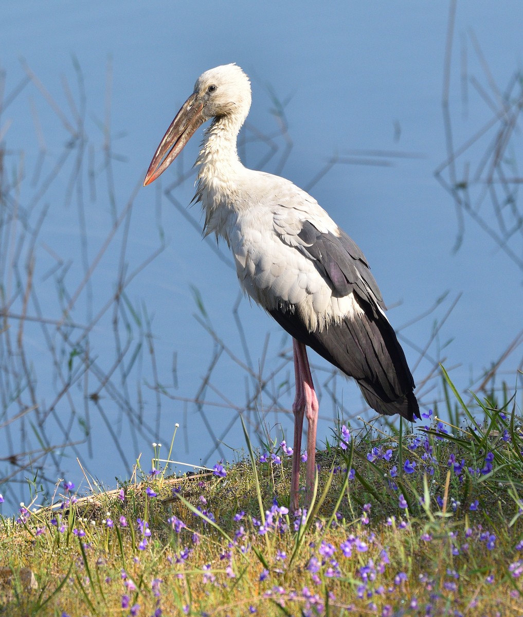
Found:
[(198, 99), (198, 94), (192, 93), (176, 114), (162, 141), (160, 141), (147, 170), (144, 186), (147, 186), (165, 172), (183, 150), (187, 141), (194, 135), (197, 128), (205, 122), (203, 110), (204, 104)]

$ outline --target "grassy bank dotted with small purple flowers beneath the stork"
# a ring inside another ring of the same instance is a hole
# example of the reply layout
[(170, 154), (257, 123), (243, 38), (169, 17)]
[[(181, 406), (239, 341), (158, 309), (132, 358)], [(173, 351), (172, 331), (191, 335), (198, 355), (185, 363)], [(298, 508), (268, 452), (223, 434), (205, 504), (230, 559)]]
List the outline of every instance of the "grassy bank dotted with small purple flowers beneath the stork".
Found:
[(511, 402), (477, 400), (479, 422), (454, 394), (461, 428), (341, 426), (295, 516), (277, 440), (214, 473), (81, 499), (63, 482), (59, 508), (2, 520), (0, 615), (521, 615), (521, 424)]

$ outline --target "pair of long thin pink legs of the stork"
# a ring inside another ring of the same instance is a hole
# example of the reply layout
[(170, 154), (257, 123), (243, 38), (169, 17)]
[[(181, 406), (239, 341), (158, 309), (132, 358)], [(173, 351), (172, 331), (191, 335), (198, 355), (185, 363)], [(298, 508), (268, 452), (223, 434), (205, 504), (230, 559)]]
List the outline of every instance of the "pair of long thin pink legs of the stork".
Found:
[(294, 455), (292, 457), (292, 474), (290, 476), (290, 505), (294, 510), (299, 507), (300, 456), (302, 449), (303, 416), (307, 417), (307, 505), (310, 504), (316, 473), (316, 427), (318, 425), (318, 398), (307, 358), (307, 347), (292, 339), (294, 351), (294, 374), (296, 379), (296, 396), (292, 405), (294, 413)]

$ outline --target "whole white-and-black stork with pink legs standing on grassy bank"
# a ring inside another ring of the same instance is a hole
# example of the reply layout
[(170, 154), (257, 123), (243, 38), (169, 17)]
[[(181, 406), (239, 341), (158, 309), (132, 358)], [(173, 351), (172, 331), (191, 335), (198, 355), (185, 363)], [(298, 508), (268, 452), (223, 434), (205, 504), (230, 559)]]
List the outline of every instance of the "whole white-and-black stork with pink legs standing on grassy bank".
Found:
[(296, 510), (304, 415), (307, 502), (316, 472), (318, 399), (306, 346), (355, 378), (377, 412), (412, 421), (420, 417), (419, 407), (405, 354), (358, 246), (305, 191), (285, 178), (247, 169), (239, 160), (237, 135), (250, 102), (250, 81), (240, 67), (226, 64), (202, 73), (160, 142), (144, 186), (212, 119), (196, 160), (195, 199), (205, 212), (204, 234), (221, 236), (233, 252), (244, 292), (293, 337), (290, 505)]

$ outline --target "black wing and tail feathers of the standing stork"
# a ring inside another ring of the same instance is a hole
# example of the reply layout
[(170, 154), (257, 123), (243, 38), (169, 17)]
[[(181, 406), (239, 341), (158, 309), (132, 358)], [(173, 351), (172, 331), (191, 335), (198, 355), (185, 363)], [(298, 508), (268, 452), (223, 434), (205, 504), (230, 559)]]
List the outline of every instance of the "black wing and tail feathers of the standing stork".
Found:
[(363, 253), (347, 234), (322, 234), (310, 222), (304, 223), (299, 237), (305, 244), (299, 250), (314, 260), (333, 295), (352, 292), (363, 313), (312, 332), (296, 311), (273, 309), (271, 315), (291, 336), (355, 378), (377, 412), (419, 418), (414, 379), (392, 326), (377, 308), (385, 305)]

